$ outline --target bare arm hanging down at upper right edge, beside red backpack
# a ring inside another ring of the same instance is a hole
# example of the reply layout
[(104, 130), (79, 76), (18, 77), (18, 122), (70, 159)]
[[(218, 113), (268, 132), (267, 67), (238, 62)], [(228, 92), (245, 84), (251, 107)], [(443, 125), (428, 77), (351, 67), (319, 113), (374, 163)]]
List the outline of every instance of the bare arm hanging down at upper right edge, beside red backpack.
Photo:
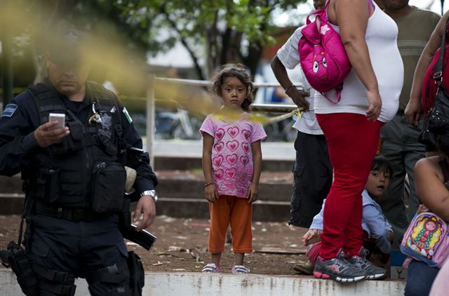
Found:
[(406, 118), (408, 123), (418, 126), (421, 115), (421, 93), (422, 82), (424, 81), (424, 74), (426, 74), (427, 68), (431, 63), (431, 59), (434, 56), (436, 50), (441, 45), (441, 39), (446, 27), (446, 22), (449, 18), (449, 11), (446, 11), (443, 18), (436, 25), (434, 32), (432, 32), (429, 41), (422, 51), (420, 60), (418, 61), (413, 75), (412, 89), (410, 90), (410, 100), (408, 101), (406, 111)]

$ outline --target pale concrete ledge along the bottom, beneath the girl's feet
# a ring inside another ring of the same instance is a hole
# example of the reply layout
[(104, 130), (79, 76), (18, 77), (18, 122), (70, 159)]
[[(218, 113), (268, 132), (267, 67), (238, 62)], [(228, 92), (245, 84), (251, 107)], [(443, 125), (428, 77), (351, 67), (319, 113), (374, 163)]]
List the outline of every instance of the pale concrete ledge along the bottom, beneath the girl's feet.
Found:
[[(77, 279), (76, 296), (88, 296), (86, 281)], [(312, 277), (248, 274), (152, 273), (145, 274), (143, 295), (163, 296), (378, 296), (403, 295), (404, 281), (337, 283)], [(12, 271), (0, 269), (0, 295), (21, 296)]]

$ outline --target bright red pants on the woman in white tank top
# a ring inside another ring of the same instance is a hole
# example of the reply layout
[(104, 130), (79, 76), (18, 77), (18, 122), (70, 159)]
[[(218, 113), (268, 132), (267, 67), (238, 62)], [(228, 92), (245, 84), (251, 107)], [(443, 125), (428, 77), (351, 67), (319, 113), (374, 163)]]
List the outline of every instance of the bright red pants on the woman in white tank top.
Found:
[(379, 143), (380, 121), (351, 113), (316, 114), (326, 135), (334, 181), (324, 206), (321, 253), (335, 258), (340, 248), (358, 255), (363, 241), (362, 196)]

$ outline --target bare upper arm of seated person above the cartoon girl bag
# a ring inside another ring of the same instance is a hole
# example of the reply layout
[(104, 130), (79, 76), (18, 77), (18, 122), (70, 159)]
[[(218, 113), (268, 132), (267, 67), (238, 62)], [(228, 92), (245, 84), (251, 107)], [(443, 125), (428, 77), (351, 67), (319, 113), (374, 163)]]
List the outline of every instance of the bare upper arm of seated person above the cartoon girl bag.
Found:
[(449, 221), (449, 191), (443, 184), (438, 156), (420, 159), (414, 172), (416, 192), (424, 206)]

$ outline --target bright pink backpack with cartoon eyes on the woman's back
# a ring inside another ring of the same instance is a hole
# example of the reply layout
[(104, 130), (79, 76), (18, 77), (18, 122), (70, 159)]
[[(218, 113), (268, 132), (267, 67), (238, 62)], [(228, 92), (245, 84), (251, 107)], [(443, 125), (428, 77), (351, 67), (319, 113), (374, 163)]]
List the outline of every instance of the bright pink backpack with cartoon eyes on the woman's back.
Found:
[[(344, 51), (340, 35), (328, 22), (326, 15), (328, 6), (329, 1), (326, 2), (324, 9), (307, 15), (306, 26), (301, 31), (302, 37), (298, 43), (298, 51), (302, 71), (311, 87), (320, 93), (335, 88), (337, 102), (340, 102), (343, 81), (351, 69), (351, 63)], [(368, 6), (371, 8), (370, 5)], [(313, 22), (309, 20), (311, 15), (316, 15)], [(333, 101), (330, 100), (330, 102)]]

